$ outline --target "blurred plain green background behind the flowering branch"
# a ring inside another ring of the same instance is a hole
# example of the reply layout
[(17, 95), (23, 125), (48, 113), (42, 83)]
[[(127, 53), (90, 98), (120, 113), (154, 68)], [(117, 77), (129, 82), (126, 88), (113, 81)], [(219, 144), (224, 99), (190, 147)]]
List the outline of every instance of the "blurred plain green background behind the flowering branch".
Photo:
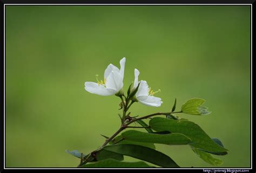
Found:
[[(230, 150), (221, 167), (250, 167), (250, 6), (6, 6), (6, 167), (77, 167), (65, 153), (101, 146), (119, 127), (119, 98), (84, 90), (126, 57), (161, 107), (206, 99), (210, 116), (180, 114)], [(188, 146), (157, 145), (181, 167), (212, 167)], [(126, 157), (126, 161), (134, 161)]]

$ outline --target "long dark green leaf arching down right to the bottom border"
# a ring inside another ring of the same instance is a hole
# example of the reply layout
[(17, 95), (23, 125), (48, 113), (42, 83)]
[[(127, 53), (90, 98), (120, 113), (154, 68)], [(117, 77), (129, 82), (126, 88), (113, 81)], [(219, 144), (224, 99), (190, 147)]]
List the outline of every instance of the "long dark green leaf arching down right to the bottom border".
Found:
[(158, 152), (157, 150), (143, 146), (117, 144), (112, 146), (105, 146), (103, 149), (110, 152), (138, 158), (140, 160), (150, 162), (164, 168), (179, 167), (169, 156)]

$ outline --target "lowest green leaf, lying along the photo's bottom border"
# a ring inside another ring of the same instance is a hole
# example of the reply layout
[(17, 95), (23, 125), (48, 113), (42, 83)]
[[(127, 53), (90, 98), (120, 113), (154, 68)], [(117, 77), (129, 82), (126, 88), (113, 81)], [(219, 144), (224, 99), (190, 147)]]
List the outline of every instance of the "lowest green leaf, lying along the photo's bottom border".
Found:
[(150, 168), (145, 162), (120, 162), (113, 159), (105, 159), (96, 163), (84, 164), (82, 168)]

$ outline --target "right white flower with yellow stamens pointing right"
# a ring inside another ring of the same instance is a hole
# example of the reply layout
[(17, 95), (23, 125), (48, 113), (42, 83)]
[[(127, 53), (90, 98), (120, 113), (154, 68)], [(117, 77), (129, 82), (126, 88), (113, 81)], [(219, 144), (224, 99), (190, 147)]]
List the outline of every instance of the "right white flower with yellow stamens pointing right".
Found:
[[(135, 78), (134, 78), (133, 89), (135, 89), (139, 83), (138, 82), (139, 70), (134, 69), (134, 76)], [(160, 90), (156, 92), (159, 92), (159, 91)], [(140, 81), (139, 88), (135, 96), (137, 100), (144, 105), (159, 107), (163, 102), (161, 101), (161, 98), (153, 96), (154, 93), (156, 92), (153, 92), (151, 88), (149, 88), (149, 85), (147, 85), (146, 81)]]

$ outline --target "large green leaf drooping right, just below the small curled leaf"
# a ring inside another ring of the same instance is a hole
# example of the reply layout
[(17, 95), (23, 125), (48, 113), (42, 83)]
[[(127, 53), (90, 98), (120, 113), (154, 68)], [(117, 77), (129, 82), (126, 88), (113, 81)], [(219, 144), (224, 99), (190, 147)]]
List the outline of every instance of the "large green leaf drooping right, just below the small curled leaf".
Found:
[(226, 152), (227, 149), (215, 143), (201, 127), (192, 121), (172, 120), (156, 117), (150, 120), (150, 127), (155, 131), (169, 131), (181, 133), (192, 140), (191, 146), (206, 150), (208, 152)]

